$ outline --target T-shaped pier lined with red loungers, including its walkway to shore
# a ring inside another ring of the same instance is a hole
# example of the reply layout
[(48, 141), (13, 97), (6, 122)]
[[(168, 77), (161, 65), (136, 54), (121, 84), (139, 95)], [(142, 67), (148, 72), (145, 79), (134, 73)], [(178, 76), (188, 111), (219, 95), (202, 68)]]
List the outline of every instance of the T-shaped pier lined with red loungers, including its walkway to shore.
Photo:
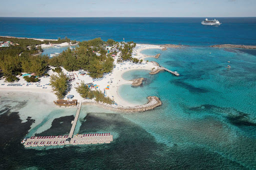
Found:
[[(77, 100), (76, 102), (77, 103)], [(78, 105), (72, 127), (69, 135), (59, 136), (39, 136), (28, 138), (25, 147), (44, 147), (57, 145), (86, 145), (86, 144), (109, 144), (113, 141), (113, 136), (110, 133), (95, 133), (95, 134), (77, 134), (73, 136), (74, 129), (81, 110), (81, 102)]]

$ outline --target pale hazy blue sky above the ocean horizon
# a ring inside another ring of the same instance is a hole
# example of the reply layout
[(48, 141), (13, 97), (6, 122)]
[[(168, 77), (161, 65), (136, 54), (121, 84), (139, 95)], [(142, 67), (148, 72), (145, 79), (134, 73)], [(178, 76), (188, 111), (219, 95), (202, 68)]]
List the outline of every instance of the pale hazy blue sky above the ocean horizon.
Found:
[(0, 16), (256, 16), (256, 0), (2, 0)]

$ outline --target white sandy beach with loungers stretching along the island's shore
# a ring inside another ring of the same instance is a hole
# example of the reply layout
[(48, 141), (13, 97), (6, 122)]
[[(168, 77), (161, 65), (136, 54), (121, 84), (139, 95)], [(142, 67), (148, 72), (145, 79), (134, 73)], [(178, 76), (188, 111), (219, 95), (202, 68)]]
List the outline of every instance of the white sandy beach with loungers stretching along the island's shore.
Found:
[[(148, 45), (148, 44), (137, 44), (135, 47), (135, 50), (133, 51), (134, 57), (138, 59), (144, 59), (145, 55), (140, 53), (140, 51), (145, 50), (145, 49), (150, 49), (150, 48), (158, 48), (161, 49), (159, 45)], [(146, 69), (146, 70), (151, 70), (153, 67), (156, 67), (153, 65), (153, 63), (146, 61), (143, 61), (142, 64), (134, 64), (131, 62), (123, 62), (123, 63), (117, 63), (117, 58), (119, 54), (114, 58), (114, 64), (115, 68), (113, 69), (112, 73), (104, 75), (104, 77), (101, 80), (94, 81), (92, 80), (91, 77), (88, 75), (80, 75), (78, 74), (78, 71), (73, 71), (73, 72), (68, 72), (64, 68), (62, 68), (62, 71), (66, 73), (74, 73), (75, 75), (75, 80), (71, 82), (71, 90), (68, 94), (74, 95), (73, 99), (77, 99), (78, 101), (83, 101), (84, 99), (80, 97), (80, 95), (76, 92), (74, 87), (77, 87), (78, 84), (82, 80), (84, 83), (93, 83), (98, 85), (98, 90), (101, 90), (102, 92), (104, 91), (104, 88), (106, 88), (107, 85), (109, 85), (109, 89), (105, 90), (106, 95), (113, 99), (115, 103), (121, 106), (136, 106), (134, 104), (128, 103), (124, 99), (122, 99), (118, 95), (118, 87), (123, 84), (131, 84), (132, 81), (126, 81), (122, 78), (122, 74), (126, 71), (130, 70), (135, 70), (135, 69)], [(56, 74), (53, 73), (52, 70), (48, 72), (49, 75), (51, 74)], [(22, 86), (7, 86), (8, 84), (4, 82), (4, 79), (0, 79), (0, 91), (28, 91), (28, 92), (37, 92), (37, 93), (48, 93), (53, 100), (56, 100), (56, 96), (53, 94), (51, 86), (49, 84), (49, 77), (41, 77), (39, 83), (26, 83), (26, 81), (22, 78), (22, 76), (19, 77), (19, 81), (12, 83), (12, 84), (20, 84)], [(111, 83), (112, 80), (112, 83)], [(28, 85), (27, 85), (28, 84)], [(66, 99), (66, 98), (64, 98)], [(50, 100), (50, 99), (49, 99)]]

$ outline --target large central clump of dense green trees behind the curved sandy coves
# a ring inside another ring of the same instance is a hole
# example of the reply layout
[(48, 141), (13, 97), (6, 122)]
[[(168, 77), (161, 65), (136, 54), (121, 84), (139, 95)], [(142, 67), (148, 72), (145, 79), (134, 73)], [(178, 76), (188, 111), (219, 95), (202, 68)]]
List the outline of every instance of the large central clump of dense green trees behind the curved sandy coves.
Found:
[(77, 71), (79, 69), (87, 70), (92, 78), (102, 77), (104, 73), (111, 72), (113, 69), (113, 58), (107, 56), (107, 51), (104, 48), (98, 48), (99, 56), (93, 52), (93, 47), (103, 45), (100, 38), (95, 38), (89, 41), (82, 41), (76, 50), (67, 49), (60, 55), (49, 59), (49, 65), (62, 66), (67, 71)]

